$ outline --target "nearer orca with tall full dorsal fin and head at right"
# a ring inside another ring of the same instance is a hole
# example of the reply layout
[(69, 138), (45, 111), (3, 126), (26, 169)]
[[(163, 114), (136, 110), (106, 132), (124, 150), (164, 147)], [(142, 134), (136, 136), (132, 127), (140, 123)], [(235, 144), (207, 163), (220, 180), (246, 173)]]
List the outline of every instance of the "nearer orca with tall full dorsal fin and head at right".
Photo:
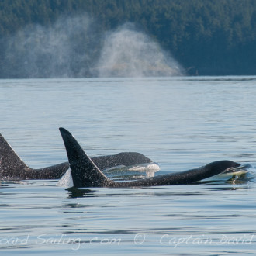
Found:
[(78, 141), (74, 139), (68, 130), (60, 128), (60, 132), (67, 151), (74, 188), (133, 188), (159, 185), (188, 185), (226, 171), (233, 171), (235, 168), (240, 167), (240, 164), (234, 161), (223, 160), (215, 161), (189, 171), (158, 175), (131, 182), (115, 182), (107, 178), (106, 175), (100, 171), (97, 164), (92, 158), (88, 157), (85, 151), (78, 144)]

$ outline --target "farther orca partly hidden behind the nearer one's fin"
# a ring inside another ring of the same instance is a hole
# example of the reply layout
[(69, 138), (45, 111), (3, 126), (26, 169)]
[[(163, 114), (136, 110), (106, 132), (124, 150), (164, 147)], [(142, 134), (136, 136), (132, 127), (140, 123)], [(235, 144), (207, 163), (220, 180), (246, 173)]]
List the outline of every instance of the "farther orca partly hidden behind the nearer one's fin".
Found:
[[(130, 166), (152, 162), (149, 158), (137, 152), (121, 152), (119, 154), (92, 157), (92, 160), (102, 170), (115, 168), (119, 165)], [(0, 179), (59, 179), (68, 168), (68, 162), (40, 169), (30, 168), (0, 134)]]

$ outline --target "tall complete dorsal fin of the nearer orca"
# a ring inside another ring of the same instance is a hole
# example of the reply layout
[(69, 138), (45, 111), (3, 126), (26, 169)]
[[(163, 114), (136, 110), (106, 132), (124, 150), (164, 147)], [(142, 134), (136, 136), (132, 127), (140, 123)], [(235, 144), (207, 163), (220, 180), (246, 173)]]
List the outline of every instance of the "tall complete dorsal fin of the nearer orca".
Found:
[(90, 157), (66, 129), (60, 128), (61, 136), (67, 151), (74, 187), (104, 187), (112, 181), (95, 165)]

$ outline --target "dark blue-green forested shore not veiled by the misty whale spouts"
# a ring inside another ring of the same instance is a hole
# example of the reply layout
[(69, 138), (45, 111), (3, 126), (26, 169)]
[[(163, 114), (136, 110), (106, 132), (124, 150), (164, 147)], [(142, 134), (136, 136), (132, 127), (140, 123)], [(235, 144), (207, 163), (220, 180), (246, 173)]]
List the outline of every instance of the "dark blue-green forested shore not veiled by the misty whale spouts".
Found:
[(134, 22), (188, 74), (256, 74), (255, 0), (2, 0), (0, 78), (8, 76), (2, 71), (6, 38), (31, 24), (50, 27), (61, 16), (83, 13), (102, 31)]

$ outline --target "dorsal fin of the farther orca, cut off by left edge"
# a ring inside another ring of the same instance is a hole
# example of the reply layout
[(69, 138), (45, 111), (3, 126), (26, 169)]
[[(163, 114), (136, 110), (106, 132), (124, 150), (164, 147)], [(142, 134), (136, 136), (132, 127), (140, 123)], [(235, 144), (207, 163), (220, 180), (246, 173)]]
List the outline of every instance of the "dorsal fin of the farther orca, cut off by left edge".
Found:
[(30, 169), (0, 134), (0, 177), (19, 178)]

